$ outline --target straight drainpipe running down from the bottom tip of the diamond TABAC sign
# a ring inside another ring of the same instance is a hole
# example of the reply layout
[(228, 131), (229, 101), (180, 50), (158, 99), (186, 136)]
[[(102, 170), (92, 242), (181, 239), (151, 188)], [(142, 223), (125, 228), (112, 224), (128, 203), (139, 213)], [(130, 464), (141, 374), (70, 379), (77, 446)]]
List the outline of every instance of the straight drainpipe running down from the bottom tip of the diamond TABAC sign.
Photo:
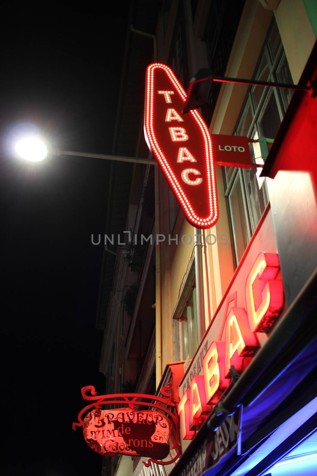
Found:
[(201, 342), (205, 333), (205, 304), (202, 274), (202, 230), (194, 228), (194, 237), (197, 327), (198, 342)]

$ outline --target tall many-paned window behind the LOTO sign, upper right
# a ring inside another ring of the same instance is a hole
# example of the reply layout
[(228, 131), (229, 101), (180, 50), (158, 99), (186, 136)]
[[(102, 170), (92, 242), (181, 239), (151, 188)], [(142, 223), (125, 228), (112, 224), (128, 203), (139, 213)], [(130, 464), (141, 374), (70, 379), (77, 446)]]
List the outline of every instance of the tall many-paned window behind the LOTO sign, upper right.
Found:
[[(292, 83), (288, 62), (273, 20), (254, 73), (255, 79)], [(251, 86), (240, 112), (234, 135), (274, 139), (292, 92), (289, 89)], [(254, 163), (263, 163), (259, 143), (250, 144)], [(247, 247), (259, 219), (269, 202), (266, 181), (261, 169), (224, 167), (226, 198), (233, 235), (236, 265)]]

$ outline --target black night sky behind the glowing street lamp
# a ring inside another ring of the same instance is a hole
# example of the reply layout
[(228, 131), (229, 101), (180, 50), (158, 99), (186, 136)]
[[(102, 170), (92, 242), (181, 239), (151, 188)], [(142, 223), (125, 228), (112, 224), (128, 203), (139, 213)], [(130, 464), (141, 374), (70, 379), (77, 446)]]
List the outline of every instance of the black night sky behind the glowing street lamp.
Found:
[[(100, 475), (102, 458), (72, 430), (104, 392), (95, 329), (110, 163), (17, 159), (32, 124), (53, 148), (111, 153), (129, 2), (1, 4), (0, 474)], [(20, 126), (20, 124), (24, 124)]]

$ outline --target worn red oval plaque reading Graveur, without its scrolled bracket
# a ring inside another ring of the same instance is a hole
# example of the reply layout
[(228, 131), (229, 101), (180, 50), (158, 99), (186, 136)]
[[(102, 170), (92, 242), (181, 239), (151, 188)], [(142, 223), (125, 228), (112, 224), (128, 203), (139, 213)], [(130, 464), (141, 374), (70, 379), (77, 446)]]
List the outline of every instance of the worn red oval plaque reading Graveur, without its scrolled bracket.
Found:
[(169, 419), (155, 410), (96, 409), (86, 415), (83, 425), (87, 445), (102, 456), (166, 458), (170, 433)]

